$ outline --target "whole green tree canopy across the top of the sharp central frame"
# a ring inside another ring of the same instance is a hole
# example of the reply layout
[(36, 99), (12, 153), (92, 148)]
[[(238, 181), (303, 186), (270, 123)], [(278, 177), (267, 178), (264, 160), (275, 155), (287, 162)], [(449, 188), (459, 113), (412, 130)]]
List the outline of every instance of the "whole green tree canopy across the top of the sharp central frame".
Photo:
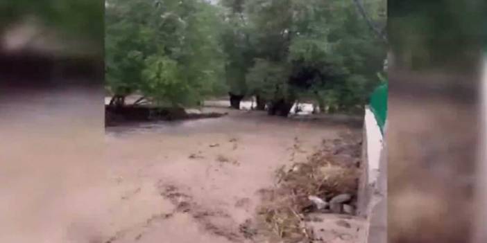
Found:
[(171, 106), (227, 91), (282, 115), (302, 99), (360, 106), (380, 82), (385, 3), (108, 0), (108, 88)]

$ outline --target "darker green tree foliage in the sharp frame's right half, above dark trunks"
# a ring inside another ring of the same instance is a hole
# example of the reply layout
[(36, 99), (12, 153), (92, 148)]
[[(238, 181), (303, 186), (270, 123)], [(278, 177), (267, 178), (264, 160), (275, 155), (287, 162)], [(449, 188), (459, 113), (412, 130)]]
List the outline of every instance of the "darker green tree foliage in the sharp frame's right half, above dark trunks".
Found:
[[(385, 1), (367, 3), (374, 24), (384, 26)], [(351, 1), (250, 0), (245, 10), (258, 58), (246, 76), (251, 93), (347, 109), (364, 104), (379, 83), (386, 46)]]

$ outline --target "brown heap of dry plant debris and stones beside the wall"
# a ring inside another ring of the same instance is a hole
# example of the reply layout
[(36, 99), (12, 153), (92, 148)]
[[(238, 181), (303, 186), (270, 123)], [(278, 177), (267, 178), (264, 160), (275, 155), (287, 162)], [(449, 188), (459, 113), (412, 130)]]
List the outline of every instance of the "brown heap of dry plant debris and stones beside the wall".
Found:
[(321, 150), (306, 163), (276, 172), (275, 188), (262, 190), (263, 204), (257, 211), (259, 224), (271, 242), (311, 242), (308, 215), (334, 213), (354, 215), (361, 155), (360, 134), (343, 134), (325, 140)]

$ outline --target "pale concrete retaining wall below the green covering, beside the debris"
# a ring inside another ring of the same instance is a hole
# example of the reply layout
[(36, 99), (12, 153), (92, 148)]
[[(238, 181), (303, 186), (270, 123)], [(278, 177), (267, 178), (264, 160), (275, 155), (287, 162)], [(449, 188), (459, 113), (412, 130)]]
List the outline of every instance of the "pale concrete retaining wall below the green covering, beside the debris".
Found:
[[(385, 134), (386, 127), (384, 127)], [(366, 241), (387, 242), (386, 143), (373, 112), (366, 107), (357, 213), (366, 218)]]

